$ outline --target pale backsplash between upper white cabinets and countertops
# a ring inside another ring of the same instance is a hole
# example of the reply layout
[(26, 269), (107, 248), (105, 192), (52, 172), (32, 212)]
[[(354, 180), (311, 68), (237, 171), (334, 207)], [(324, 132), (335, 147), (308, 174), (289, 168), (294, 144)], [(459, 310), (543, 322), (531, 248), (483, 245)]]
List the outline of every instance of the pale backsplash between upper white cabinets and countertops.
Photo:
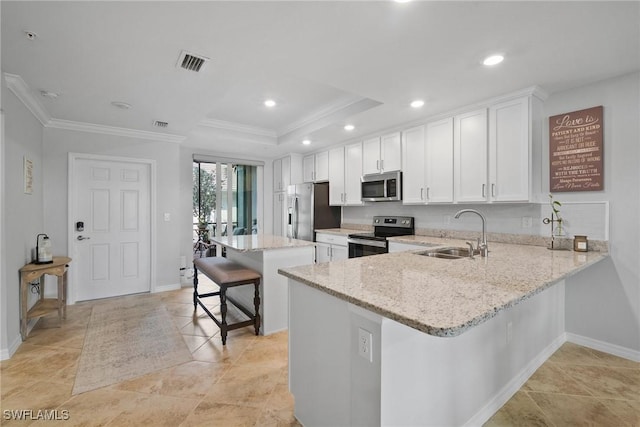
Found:
[[(549, 225), (542, 220), (551, 215), (548, 204), (485, 204), (485, 205), (403, 205), (400, 202), (372, 203), (342, 208), (342, 223), (370, 226), (376, 215), (404, 215), (415, 217), (416, 229), (480, 230), (480, 219), (463, 215), (455, 219), (460, 209), (472, 208), (487, 219), (487, 232), (524, 234), (548, 237)], [(607, 202), (565, 202), (560, 208), (563, 231), (567, 237), (586, 235), (593, 240), (609, 238), (609, 206)]]

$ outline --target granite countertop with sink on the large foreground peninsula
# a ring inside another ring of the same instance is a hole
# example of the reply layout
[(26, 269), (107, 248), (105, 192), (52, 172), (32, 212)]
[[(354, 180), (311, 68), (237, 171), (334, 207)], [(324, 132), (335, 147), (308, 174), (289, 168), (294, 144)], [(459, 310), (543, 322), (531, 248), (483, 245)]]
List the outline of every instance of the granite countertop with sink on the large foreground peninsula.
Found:
[[(393, 239), (466, 247), (436, 237)], [(413, 250), (278, 271), (430, 335), (456, 336), (608, 256), (491, 242), (489, 250), (487, 258), (446, 260)]]

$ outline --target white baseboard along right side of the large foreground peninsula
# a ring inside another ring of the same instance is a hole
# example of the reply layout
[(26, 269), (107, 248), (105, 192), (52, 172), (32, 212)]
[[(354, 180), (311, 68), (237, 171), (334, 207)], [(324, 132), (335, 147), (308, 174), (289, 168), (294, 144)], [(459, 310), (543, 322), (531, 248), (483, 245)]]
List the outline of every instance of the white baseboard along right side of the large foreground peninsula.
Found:
[(551, 357), (553, 353), (558, 350), (562, 344), (567, 341), (566, 334), (560, 334), (555, 340), (551, 342), (544, 350), (540, 352), (535, 358), (531, 360), (518, 373), (513, 377), (502, 390), (500, 390), (487, 404), (480, 409), (474, 416), (472, 416), (464, 425), (467, 427), (481, 426), (486, 423), (489, 418), (493, 416), (511, 397), (516, 394), (518, 390), (527, 382), (527, 380), (533, 375), (533, 373), (540, 367), (546, 360)]

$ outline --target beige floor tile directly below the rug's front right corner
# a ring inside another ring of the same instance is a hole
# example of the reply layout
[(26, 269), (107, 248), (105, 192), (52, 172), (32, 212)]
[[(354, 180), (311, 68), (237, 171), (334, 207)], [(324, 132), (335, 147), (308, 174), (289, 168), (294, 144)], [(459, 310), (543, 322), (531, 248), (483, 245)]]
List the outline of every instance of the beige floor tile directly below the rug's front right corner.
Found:
[(187, 362), (121, 382), (112, 388), (145, 394), (201, 399), (229, 368), (230, 365), (224, 363)]

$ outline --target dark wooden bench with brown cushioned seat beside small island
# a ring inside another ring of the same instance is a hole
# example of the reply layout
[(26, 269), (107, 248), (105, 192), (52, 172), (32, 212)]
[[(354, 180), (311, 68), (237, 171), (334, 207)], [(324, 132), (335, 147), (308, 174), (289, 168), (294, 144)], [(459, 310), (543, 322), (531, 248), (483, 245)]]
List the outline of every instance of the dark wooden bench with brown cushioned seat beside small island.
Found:
[[(205, 294), (198, 293), (198, 272), (201, 272), (209, 279), (213, 280), (220, 290)], [(193, 260), (193, 307), (197, 308), (198, 304), (213, 319), (220, 328), (222, 336), (222, 344), (227, 343), (227, 332), (253, 325), (256, 335), (260, 333), (260, 274), (250, 268), (243, 267), (233, 261), (229, 261), (222, 257), (195, 258)], [(254, 312), (244, 307), (238, 301), (227, 296), (227, 289), (235, 286), (254, 285), (253, 308)], [(220, 296), (220, 314), (219, 320), (209, 311), (202, 302), (202, 298)], [(237, 307), (240, 311), (249, 317), (249, 320), (228, 324), (227, 323), (227, 300)]]

